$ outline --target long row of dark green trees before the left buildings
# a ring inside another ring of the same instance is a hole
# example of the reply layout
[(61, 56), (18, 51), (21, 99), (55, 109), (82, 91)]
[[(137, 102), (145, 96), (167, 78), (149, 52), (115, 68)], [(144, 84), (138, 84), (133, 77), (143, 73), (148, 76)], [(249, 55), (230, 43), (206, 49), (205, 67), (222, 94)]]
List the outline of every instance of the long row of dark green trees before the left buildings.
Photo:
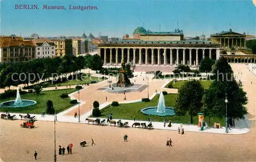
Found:
[[(100, 70), (102, 62), (99, 55), (86, 55), (34, 59), (27, 62), (0, 63), (0, 88), (19, 84), (36, 83), (52, 76), (76, 73), (83, 68)], [(22, 74), (23, 73), (23, 74)]]

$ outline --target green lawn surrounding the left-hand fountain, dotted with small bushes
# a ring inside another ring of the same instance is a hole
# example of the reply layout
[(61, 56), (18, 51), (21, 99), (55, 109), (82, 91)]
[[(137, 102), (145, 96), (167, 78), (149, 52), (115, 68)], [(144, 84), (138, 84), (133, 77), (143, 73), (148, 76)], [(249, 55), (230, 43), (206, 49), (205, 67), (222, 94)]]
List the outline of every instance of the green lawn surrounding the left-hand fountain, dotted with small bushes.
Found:
[[(56, 113), (62, 112), (68, 108), (70, 108), (72, 105), (69, 103), (71, 100), (70, 98), (60, 98), (60, 94), (65, 93), (67, 91), (68, 94), (75, 92), (75, 89), (67, 89), (67, 90), (54, 90), (54, 91), (41, 91), (40, 95), (36, 95), (35, 93), (29, 93), (20, 95), (22, 99), (30, 99), (35, 100), (37, 103), (32, 106), (27, 107), (16, 107), (16, 108), (5, 108), (0, 107), (0, 112), (12, 112), (12, 113), (31, 113), (31, 114), (41, 114), (42, 111), (46, 110), (46, 102), (48, 100), (53, 101), (53, 106), (56, 111)], [(7, 101), (7, 100), (15, 100), (15, 98), (9, 98), (9, 99), (1, 99), (1, 102)]]

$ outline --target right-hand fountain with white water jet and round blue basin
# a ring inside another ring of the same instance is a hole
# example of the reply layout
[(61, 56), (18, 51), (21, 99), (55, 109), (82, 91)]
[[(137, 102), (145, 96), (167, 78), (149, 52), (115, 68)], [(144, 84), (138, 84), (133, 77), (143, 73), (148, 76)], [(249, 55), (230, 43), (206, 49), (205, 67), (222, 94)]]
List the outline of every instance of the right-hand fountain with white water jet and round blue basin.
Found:
[(167, 116), (175, 115), (173, 107), (166, 107), (164, 102), (163, 93), (160, 93), (158, 105), (153, 107), (146, 107), (141, 109), (141, 112), (146, 115), (158, 115), (158, 116)]

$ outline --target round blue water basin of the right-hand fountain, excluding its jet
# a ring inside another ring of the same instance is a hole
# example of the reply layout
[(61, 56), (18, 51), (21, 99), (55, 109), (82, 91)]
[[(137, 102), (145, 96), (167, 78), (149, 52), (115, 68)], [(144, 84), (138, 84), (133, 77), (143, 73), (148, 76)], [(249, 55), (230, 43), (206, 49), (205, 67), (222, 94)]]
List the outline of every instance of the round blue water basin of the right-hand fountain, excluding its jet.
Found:
[(157, 112), (157, 106), (146, 107), (140, 110), (143, 114), (146, 115), (157, 115), (157, 116), (172, 116), (175, 115), (173, 107), (165, 107), (165, 112)]

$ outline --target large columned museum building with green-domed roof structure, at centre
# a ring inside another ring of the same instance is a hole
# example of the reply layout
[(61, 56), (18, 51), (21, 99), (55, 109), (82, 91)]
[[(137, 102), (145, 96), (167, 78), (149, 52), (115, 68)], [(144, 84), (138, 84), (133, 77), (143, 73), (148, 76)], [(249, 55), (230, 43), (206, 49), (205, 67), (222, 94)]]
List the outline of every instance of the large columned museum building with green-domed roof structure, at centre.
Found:
[(124, 60), (133, 65), (198, 66), (205, 57), (218, 59), (220, 44), (209, 41), (185, 41), (183, 31), (152, 32), (137, 28), (133, 37), (121, 41), (98, 44), (98, 53), (104, 65), (120, 65)]

